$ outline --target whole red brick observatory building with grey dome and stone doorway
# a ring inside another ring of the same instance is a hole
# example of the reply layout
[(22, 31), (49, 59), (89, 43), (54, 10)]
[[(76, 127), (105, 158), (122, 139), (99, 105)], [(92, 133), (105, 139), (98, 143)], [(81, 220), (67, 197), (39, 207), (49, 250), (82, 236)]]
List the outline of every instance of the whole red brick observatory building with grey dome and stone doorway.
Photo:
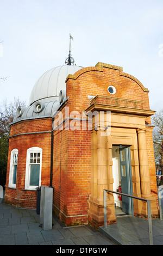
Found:
[[(70, 56), (69, 56), (70, 57)], [(36, 187), (52, 186), (53, 212), (66, 225), (104, 222), (103, 189), (151, 200), (158, 217), (148, 89), (120, 66), (53, 68), (10, 125), (5, 203), (36, 208)], [(115, 207), (116, 206), (116, 207)], [(147, 216), (146, 204), (108, 196), (116, 209)]]

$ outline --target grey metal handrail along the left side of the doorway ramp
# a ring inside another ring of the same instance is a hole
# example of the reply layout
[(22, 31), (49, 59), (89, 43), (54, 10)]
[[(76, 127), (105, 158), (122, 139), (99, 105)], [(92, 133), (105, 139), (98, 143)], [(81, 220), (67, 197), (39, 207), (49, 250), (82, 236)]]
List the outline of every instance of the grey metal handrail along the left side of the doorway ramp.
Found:
[(107, 228), (107, 211), (106, 211), (106, 192), (120, 194), (121, 196), (131, 197), (141, 201), (147, 202), (147, 212), (148, 212), (148, 230), (149, 230), (149, 245), (153, 245), (153, 234), (152, 234), (152, 217), (151, 217), (151, 202), (149, 199), (130, 196), (129, 194), (124, 194), (111, 190), (104, 190), (104, 228)]

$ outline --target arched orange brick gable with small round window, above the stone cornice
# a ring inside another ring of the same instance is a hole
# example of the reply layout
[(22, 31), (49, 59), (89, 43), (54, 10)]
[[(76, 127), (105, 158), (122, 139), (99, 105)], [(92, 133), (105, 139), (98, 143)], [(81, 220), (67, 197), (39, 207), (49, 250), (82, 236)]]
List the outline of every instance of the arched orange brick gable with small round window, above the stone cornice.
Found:
[[(122, 98), (142, 102), (141, 108), (149, 109), (148, 90), (134, 77), (122, 73), (120, 69), (111, 68), (110, 65), (103, 68), (84, 68), (70, 75), (67, 80), (68, 102), (72, 110), (84, 111), (89, 105), (90, 100), (87, 95), (111, 96), (112, 99)], [(80, 74), (80, 75), (79, 75)], [(130, 78), (131, 77), (131, 78)], [(116, 94), (108, 92), (108, 86), (115, 86)], [(120, 100), (120, 99), (119, 99)]]

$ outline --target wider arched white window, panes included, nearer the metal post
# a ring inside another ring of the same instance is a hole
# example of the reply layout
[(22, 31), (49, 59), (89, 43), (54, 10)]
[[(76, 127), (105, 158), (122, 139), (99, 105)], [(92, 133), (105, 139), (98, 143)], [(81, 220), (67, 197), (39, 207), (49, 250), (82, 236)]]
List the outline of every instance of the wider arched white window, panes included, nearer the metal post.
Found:
[(41, 186), (42, 149), (30, 148), (27, 150), (25, 189), (35, 190)]

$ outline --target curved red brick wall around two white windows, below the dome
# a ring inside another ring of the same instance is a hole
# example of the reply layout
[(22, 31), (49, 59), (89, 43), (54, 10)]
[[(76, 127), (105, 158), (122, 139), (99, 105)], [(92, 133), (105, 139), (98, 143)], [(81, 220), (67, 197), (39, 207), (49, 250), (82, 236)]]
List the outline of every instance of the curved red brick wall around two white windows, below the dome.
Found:
[[(48, 131), (52, 126), (52, 120), (26, 120), (11, 126), (10, 134), (16, 135), (27, 132)], [(42, 148), (42, 185), (49, 186), (51, 169), (51, 133), (34, 133), (18, 135), (9, 138), (7, 181), (5, 190), (5, 202), (22, 208), (36, 208), (36, 191), (24, 190), (26, 176), (27, 149), (32, 147)], [(18, 149), (16, 189), (9, 188), (10, 156), (12, 149)]]

